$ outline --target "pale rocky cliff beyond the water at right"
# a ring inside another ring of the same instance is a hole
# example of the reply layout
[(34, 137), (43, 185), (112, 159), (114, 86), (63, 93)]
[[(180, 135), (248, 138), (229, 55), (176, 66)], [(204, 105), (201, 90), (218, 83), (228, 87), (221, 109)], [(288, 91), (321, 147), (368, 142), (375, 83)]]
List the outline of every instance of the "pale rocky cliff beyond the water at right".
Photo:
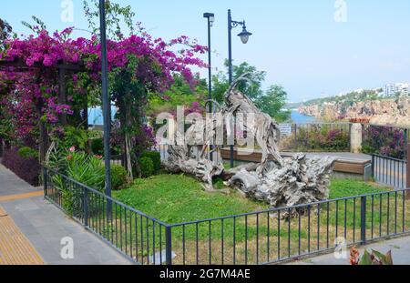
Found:
[(410, 126), (410, 97), (301, 106), (299, 112), (326, 121), (369, 119), (375, 125)]

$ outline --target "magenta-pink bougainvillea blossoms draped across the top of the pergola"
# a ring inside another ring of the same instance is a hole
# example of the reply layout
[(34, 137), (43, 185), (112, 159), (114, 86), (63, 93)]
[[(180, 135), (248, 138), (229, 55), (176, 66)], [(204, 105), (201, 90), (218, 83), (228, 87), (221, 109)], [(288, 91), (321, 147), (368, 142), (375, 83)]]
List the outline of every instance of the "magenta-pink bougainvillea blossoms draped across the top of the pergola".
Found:
[[(143, 30), (139, 24), (138, 28)], [(0, 99), (0, 119), (10, 117), (10, 125), (14, 127), (10, 131), (13, 138), (33, 135), (38, 120), (43, 117), (51, 129), (59, 126), (61, 115), (73, 115), (78, 100), (83, 99), (81, 96), (87, 96), (89, 90), (100, 87), (101, 49), (97, 35), (76, 39), (70, 36), (72, 31), (73, 28), (68, 27), (50, 34), (36, 26), (36, 35), (22, 35), (5, 41), (7, 49), (0, 52), (1, 60), (18, 60), (26, 66), (38, 66), (24, 73), (14, 67), (0, 70), (0, 92), (5, 90), (5, 96)], [(133, 79), (147, 87), (148, 92), (163, 93), (174, 83), (177, 73), (193, 88), (197, 80), (190, 66), (206, 67), (196, 55), (207, 50), (206, 46), (198, 45), (185, 35), (165, 42), (162, 38), (153, 39), (143, 31), (117, 41), (108, 40), (108, 70), (129, 69), (134, 59), (138, 61), (138, 67), (133, 69)], [(59, 87), (55, 67), (60, 62), (84, 66), (83, 72), (67, 75), (67, 83), (75, 94), (67, 97), (67, 104), (57, 99)], [(141, 101), (147, 104), (147, 100)], [(193, 108), (192, 111), (200, 109), (199, 106)]]

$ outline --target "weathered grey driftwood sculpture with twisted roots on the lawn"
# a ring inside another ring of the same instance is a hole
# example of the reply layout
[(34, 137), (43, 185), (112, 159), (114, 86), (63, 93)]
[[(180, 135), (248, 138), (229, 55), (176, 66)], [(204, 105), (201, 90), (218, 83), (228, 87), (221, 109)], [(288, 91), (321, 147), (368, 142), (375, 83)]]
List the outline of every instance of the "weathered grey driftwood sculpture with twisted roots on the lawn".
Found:
[[(243, 77), (227, 91), (225, 106), (219, 106), (216, 116), (208, 121), (195, 121), (185, 136), (176, 133), (177, 145), (183, 146), (169, 146), (165, 168), (172, 173), (184, 172), (199, 178), (205, 189), (211, 192), (215, 191), (212, 185), (214, 177), (221, 177), (227, 186), (272, 207), (291, 207), (327, 199), (334, 159), (307, 158), (303, 154), (282, 158), (277, 147), (281, 138), (278, 124), (235, 89), (241, 79)], [(254, 137), (261, 147), (260, 164), (225, 170), (223, 164), (208, 159), (207, 148), (213, 145), (218, 130), (225, 124), (228, 125), (227, 131), (231, 131), (227, 122), (231, 116), (252, 117), (251, 123), (240, 123), (237, 127), (247, 136)], [(192, 156), (192, 147), (201, 147), (199, 156)]]

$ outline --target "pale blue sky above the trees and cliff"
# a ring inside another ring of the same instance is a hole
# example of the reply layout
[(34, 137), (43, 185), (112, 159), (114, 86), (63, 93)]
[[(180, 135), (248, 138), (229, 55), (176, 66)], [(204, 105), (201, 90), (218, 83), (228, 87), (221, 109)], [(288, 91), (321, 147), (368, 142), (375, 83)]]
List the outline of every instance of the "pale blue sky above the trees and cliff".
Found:
[[(74, 21), (63, 21), (62, 4), (72, 2)], [(0, 17), (18, 34), (31, 15), (49, 30), (67, 26), (87, 29), (83, 0), (2, 0)], [(207, 45), (203, 13), (214, 13), (213, 73), (224, 71), (228, 56), (227, 11), (233, 20), (246, 20), (253, 34), (241, 44), (233, 31), (234, 64), (249, 62), (266, 71), (264, 87), (282, 85), (290, 102), (333, 96), (358, 88), (410, 82), (410, 1), (408, 0), (115, 0), (131, 5), (136, 20), (151, 35), (165, 39), (179, 35)], [(76, 36), (88, 36), (77, 32)], [(207, 56), (203, 57), (207, 60)], [(207, 77), (206, 70), (200, 71)]]

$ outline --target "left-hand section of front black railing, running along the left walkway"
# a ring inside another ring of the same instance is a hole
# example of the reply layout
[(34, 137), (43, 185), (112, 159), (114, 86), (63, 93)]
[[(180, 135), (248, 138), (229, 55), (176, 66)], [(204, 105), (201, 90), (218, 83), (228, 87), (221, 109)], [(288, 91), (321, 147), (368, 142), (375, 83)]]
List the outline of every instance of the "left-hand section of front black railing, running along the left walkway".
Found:
[(44, 179), (47, 200), (123, 255), (143, 265), (169, 262), (168, 225), (56, 170), (45, 167)]

